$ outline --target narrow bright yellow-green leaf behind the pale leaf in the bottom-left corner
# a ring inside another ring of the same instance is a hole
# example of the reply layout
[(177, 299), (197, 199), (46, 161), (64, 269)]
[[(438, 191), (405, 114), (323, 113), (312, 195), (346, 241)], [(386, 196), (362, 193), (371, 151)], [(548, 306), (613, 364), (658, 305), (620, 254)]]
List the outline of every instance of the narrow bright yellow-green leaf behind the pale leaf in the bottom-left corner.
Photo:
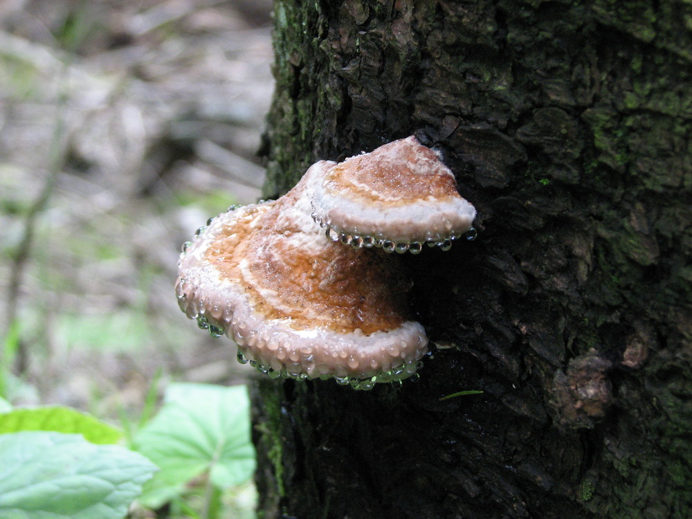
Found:
[(122, 432), (91, 415), (62, 406), (19, 408), (0, 414), (0, 434), (52, 430), (84, 435), (93, 444), (114, 444)]

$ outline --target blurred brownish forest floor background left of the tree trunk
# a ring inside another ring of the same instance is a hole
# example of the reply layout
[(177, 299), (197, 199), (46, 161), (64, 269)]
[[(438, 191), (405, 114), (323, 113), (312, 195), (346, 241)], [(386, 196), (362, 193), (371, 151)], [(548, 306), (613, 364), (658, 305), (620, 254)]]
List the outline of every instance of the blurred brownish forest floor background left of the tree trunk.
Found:
[[(260, 196), (270, 1), (0, 0), (0, 332), (12, 403), (136, 415), (239, 383), (185, 318), (183, 242)], [(12, 364), (12, 366), (10, 366)], [(10, 369), (12, 368), (12, 369)]]

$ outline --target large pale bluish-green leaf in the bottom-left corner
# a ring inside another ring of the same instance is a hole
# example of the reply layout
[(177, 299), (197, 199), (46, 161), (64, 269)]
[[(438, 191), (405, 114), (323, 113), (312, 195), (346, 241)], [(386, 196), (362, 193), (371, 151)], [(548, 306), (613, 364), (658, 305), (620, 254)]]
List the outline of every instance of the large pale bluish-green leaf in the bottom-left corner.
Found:
[(0, 435), (0, 517), (122, 519), (156, 466), (62, 432)]

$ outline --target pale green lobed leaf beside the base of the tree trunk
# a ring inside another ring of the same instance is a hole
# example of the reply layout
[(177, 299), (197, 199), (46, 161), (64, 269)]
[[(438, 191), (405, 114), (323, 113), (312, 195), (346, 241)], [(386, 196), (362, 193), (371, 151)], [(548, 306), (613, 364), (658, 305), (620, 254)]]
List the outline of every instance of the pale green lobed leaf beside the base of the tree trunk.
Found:
[(240, 484), (255, 471), (247, 390), (242, 385), (172, 384), (163, 408), (134, 444), (161, 468), (141, 499), (147, 506), (170, 500), (207, 471), (221, 489)]

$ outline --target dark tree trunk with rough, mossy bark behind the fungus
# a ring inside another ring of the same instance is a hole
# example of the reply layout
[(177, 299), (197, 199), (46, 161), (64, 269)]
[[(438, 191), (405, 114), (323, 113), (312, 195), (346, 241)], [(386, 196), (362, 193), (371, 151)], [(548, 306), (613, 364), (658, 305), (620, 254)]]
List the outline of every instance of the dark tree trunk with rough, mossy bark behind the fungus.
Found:
[(277, 0), (275, 50), (266, 194), (416, 133), (480, 233), (406, 258), (419, 381), (257, 386), (261, 516), (689, 518), (692, 4)]

